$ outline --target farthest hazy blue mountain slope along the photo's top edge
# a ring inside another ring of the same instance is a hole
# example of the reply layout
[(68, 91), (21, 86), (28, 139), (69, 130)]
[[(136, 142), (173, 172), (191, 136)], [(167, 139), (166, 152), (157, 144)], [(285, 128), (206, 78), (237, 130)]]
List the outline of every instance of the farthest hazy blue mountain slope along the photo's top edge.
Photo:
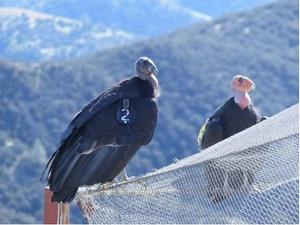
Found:
[[(2, 0), (0, 6), (22, 7), (94, 23), (140, 36), (157, 36), (199, 21), (254, 8), (275, 0)], [(105, 10), (103, 10), (105, 9)], [(146, 25), (146, 26), (145, 26)]]

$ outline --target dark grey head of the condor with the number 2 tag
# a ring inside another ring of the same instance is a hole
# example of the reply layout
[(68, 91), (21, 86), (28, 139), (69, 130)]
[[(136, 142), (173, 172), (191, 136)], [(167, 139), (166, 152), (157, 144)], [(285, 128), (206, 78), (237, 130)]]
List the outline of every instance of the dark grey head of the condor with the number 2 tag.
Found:
[(151, 74), (157, 76), (158, 73), (157, 67), (155, 66), (154, 62), (145, 56), (140, 57), (136, 60), (135, 71), (137, 75), (141, 77), (150, 76)]

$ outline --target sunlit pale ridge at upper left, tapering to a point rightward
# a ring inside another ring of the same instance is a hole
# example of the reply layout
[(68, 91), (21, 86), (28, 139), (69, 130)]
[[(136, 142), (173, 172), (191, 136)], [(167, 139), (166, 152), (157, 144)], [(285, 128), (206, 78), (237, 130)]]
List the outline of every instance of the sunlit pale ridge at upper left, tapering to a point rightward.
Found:
[(23, 8), (0, 7), (0, 56), (63, 60), (130, 43), (134, 35), (90, 22)]

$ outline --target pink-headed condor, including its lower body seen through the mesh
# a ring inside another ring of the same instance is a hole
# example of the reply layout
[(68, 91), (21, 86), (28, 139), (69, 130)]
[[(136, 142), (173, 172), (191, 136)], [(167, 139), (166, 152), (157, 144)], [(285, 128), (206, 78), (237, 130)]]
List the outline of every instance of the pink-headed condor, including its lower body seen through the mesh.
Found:
[[(202, 149), (206, 149), (266, 119), (266, 117), (258, 114), (251, 104), (248, 92), (254, 88), (254, 82), (245, 76), (236, 75), (232, 78), (233, 97), (220, 106), (200, 130), (198, 143)], [(205, 165), (205, 174), (208, 178), (207, 194), (212, 202), (225, 199), (228, 195), (224, 190), (237, 190), (244, 185), (245, 180), (249, 184), (253, 182), (251, 171), (236, 169), (227, 174), (213, 161), (209, 161)], [(226, 176), (227, 179), (225, 179)], [(225, 180), (228, 183), (225, 183)]]

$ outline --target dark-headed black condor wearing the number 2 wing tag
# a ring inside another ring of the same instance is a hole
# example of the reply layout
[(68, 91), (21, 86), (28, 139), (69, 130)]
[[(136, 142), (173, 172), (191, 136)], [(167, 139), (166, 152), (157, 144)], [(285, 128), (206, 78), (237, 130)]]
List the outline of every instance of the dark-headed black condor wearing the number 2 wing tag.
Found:
[(140, 57), (137, 76), (102, 92), (72, 119), (46, 169), (52, 201), (70, 202), (78, 187), (111, 182), (142, 145), (157, 121), (157, 68)]

